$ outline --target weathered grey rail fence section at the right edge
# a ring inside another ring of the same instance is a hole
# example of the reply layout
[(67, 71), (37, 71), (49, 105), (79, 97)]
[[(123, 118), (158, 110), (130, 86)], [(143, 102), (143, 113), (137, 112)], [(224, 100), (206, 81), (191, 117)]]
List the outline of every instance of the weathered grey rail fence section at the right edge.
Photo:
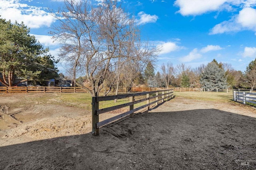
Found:
[(233, 100), (242, 104), (256, 104), (256, 92), (233, 91)]

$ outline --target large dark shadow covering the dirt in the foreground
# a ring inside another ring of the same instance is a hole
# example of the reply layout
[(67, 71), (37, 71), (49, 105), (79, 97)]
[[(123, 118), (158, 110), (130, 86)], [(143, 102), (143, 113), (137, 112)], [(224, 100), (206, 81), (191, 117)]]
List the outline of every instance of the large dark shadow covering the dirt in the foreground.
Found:
[(255, 169), (255, 129), (256, 118), (216, 109), (144, 112), (97, 137), (1, 147), (0, 169)]

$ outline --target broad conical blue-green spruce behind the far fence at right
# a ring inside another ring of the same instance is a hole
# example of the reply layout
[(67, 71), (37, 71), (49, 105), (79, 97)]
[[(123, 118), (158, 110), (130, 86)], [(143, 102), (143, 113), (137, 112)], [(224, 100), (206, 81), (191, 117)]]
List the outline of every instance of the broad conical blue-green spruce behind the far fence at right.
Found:
[(209, 89), (227, 88), (228, 86), (226, 81), (227, 79), (225, 77), (225, 71), (214, 61), (207, 64), (200, 78), (202, 88)]

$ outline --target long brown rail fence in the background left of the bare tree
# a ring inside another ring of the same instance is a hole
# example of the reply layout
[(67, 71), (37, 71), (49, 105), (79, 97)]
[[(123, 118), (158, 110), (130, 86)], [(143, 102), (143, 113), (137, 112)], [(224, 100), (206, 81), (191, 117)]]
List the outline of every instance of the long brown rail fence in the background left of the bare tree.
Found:
[(0, 87), (0, 93), (74, 93), (74, 92), (87, 92), (84, 88), (80, 87)]

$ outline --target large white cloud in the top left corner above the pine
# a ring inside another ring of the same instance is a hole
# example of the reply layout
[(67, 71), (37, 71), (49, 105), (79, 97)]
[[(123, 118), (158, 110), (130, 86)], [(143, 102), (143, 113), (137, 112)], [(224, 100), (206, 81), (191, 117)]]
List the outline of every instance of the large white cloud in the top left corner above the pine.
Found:
[(19, 0), (0, 0), (0, 4), (1, 18), (11, 20), (12, 23), (23, 21), (30, 28), (40, 28), (49, 27), (54, 22), (54, 18), (42, 8), (22, 4)]

